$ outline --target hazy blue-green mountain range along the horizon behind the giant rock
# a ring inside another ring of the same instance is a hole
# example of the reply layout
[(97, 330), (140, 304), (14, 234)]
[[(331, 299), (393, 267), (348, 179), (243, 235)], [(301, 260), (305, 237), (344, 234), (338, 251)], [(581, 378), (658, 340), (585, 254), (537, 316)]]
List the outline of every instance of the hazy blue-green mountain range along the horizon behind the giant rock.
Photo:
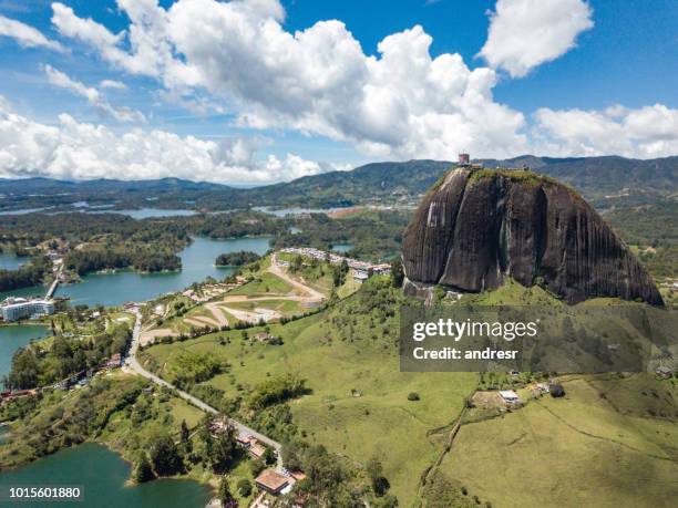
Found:
[[(637, 205), (678, 196), (678, 156), (640, 160), (618, 156), (553, 158), (525, 155), (476, 163), (486, 167), (526, 165), (573, 186), (596, 207), (622, 203)], [(453, 165), (444, 160), (373, 163), (350, 172), (330, 172), (248, 189), (178, 178), (135, 182), (0, 179), (0, 210), (64, 207), (80, 201), (116, 208), (153, 206), (213, 210), (248, 206), (411, 205)]]

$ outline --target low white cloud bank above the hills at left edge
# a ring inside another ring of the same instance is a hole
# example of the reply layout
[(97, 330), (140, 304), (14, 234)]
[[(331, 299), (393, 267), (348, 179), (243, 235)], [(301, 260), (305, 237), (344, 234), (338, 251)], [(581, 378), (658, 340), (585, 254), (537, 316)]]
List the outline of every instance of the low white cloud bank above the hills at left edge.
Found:
[(0, 96), (0, 177), (148, 179), (270, 183), (331, 169), (288, 154), (258, 163), (257, 139), (205, 141), (157, 129), (122, 134), (62, 114), (55, 126), (11, 111)]

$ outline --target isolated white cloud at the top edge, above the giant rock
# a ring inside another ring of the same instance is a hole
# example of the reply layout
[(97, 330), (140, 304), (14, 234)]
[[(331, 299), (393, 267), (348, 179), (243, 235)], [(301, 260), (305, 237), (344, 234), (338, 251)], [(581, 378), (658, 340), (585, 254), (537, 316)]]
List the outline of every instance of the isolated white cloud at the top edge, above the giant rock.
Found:
[(513, 77), (557, 59), (590, 29), (593, 11), (584, 0), (497, 0), (480, 55)]

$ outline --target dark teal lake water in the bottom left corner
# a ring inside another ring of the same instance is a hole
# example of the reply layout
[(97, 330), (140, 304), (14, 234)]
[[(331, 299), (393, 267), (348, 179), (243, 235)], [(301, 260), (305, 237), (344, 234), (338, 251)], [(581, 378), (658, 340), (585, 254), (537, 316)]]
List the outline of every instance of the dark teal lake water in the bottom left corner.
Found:
[[(2, 485), (79, 486), (83, 502), (41, 502), (54, 508), (203, 508), (210, 498), (208, 487), (193, 480), (160, 479), (125, 486), (131, 466), (119, 455), (96, 444), (58, 452), (16, 470), (0, 474)], [(16, 506), (38, 504), (17, 502)]]

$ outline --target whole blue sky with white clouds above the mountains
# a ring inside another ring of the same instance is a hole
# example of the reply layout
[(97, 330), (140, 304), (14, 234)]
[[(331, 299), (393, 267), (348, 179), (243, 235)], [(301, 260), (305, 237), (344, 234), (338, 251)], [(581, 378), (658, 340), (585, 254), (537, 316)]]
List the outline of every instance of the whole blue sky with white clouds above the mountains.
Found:
[(678, 2), (0, 0), (0, 177), (678, 155)]

